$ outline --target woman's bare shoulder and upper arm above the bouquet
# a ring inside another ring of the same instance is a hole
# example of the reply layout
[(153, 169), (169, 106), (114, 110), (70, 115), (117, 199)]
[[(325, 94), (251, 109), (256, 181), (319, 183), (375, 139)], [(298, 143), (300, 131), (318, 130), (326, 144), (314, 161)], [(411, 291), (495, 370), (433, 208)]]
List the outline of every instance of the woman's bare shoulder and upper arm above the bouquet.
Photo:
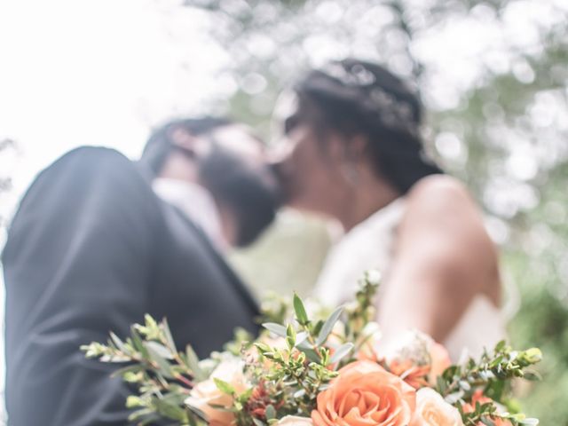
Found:
[(387, 340), (414, 327), (443, 342), (473, 296), (499, 300), (497, 253), (454, 178), (426, 177), (407, 199), (379, 322)]

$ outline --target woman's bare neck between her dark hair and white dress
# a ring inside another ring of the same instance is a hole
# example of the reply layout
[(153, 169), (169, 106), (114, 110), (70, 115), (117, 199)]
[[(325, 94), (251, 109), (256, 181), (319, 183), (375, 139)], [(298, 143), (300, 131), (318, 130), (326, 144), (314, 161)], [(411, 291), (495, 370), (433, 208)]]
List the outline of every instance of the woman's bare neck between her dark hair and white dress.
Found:
[(390, 184), (380, 180), (354, 185), (343, 202), (338, 219), (347, 233), (375, 212), (388, 206), (401, 194)]

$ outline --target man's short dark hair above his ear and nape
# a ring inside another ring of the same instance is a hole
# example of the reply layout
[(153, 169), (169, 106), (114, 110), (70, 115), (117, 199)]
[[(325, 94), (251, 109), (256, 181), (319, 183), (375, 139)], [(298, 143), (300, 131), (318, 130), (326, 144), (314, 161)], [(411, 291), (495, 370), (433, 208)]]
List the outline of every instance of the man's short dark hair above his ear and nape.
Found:
[(185, 130), (193, 136), (205, 135), (220, 127), (233, 124), (231, 120), (224, 117), (201, 117), (201, 118), (180, 118), (165, 122), (155, 128), (146, 141), (144, 152), (140, 161), (145, 163), (150, 170), (158, 175), (168, 155), (171, 153), (173, 143), (172, 134), (176, 130)]

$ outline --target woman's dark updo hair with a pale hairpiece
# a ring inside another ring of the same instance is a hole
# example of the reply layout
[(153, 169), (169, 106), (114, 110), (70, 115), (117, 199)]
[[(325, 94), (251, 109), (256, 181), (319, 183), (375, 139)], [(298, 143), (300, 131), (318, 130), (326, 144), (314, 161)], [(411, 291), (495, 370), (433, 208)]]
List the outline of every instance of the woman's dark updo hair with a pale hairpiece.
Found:
[(422, 177), (443, 173), (423, 151), (417, 92), (386, 68), (343, 59), (312, 70), (294, 89), (298, 118), (319, 133), (366, 136), (377, 173), (400, 193)]

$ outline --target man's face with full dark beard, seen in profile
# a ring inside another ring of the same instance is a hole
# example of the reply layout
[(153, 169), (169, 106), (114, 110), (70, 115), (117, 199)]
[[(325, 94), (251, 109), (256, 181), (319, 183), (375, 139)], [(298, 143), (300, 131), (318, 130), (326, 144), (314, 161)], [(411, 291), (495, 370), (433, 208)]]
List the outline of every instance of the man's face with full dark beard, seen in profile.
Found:
[(219, 128), (204, 139), (207, 150), (198, 163), (201, 183), (232, 214), (235, 244), (248, 245), (270, 225), (280, 204), (264, 145), (238, 125)]

